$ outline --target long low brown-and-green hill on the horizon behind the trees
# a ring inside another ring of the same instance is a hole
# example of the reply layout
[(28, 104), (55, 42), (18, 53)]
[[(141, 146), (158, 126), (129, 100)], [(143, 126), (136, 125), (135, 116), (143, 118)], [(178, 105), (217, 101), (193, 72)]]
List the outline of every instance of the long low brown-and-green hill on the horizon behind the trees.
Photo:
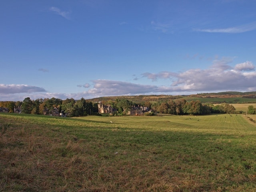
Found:
[(117, 98), (128, 99), (134, 103), (143, 102), (163, 102), (168, 100), (176, 100), (184, 98), (187, 101), (200, 100), (201, 102), (212, 102), (212, 103), (256, 103), (256, 92), (218, 92), (218, 93), (200, 93), (191, 95), (138, 95), (138, 96), (106, 96), (93, 99), (87, 99), (92, 103), (100, 101), (114, 101)]

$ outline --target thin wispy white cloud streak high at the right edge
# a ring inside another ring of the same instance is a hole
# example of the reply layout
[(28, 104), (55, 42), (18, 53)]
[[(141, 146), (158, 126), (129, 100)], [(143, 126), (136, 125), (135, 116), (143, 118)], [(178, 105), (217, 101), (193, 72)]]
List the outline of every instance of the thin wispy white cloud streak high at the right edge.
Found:
[(230, 28), (194, 29), (194, 30), (199, 32), (209, 32), (209, 33), (243, 33), (243, 32), (256, 30), (256, 22), (252, 22), (242, 26), (230, 27)]

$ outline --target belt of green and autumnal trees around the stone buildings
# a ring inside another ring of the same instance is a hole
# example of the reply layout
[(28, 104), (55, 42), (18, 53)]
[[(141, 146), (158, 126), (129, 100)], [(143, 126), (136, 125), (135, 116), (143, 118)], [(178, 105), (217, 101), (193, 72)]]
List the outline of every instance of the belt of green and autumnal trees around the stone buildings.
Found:
[[(187, 102), (185, 99), (176, 99), (158, 102), (142, 102), (134, 103), (128, 99), (116, 98), (115, 100), (106, 100), (102, 102), (104, 105), (111, 105), (115, 109), (115, 114), (125, 115), (127, 111), (132, 110), (134, 106), (146, 106), (152, 112), (160, 114), (173, 114), (173, 115), (203, 115), (203, 114), (218, 114), (218, 113), (235, 113), (234, 106), (222, 103), (220, 105), (213, 105), (202, 103), (199, 100)], [(54, 110), (66, 116), (86, 116), (98, 115), (98, 102), (92, 103), (86, 101), (84, 98), (74, 100), (67, 98), (61, 100), (58, 98), (45, 98), (31, 100), (29, 97), (25, 98), (23, 102), (0, 102), (0, 106), (9, 109), (9, 112), (14, 112), (14, 107), (20, 106), (21, 112), (26, 114), (49, 114)]]

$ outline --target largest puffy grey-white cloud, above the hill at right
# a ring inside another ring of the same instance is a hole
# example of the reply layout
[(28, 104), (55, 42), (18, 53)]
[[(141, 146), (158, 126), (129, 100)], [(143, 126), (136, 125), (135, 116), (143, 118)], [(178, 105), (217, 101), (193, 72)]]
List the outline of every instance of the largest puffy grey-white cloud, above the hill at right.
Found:
[[(181, 73), (159, 72), (157, 74), (144, 73), (152, 81), (158, 78), (170, 79), (171, 85), (168, 89), (172, 91), (214, 91), (214, 90), (248, 90), (256, 88), (256, 72), (252, 62), (237, 64), (232, 68), (228, 60), (217, 60), (206, 69), (190, 69)], [(242, 71), (250, 72), (242, 72)]]

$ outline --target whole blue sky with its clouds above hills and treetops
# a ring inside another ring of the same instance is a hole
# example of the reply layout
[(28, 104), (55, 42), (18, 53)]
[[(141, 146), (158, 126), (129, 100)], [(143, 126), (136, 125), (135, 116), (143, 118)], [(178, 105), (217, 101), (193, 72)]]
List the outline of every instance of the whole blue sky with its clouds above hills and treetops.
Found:
[(256, 91), (255, 0), (0, 4), (0, 100)]

